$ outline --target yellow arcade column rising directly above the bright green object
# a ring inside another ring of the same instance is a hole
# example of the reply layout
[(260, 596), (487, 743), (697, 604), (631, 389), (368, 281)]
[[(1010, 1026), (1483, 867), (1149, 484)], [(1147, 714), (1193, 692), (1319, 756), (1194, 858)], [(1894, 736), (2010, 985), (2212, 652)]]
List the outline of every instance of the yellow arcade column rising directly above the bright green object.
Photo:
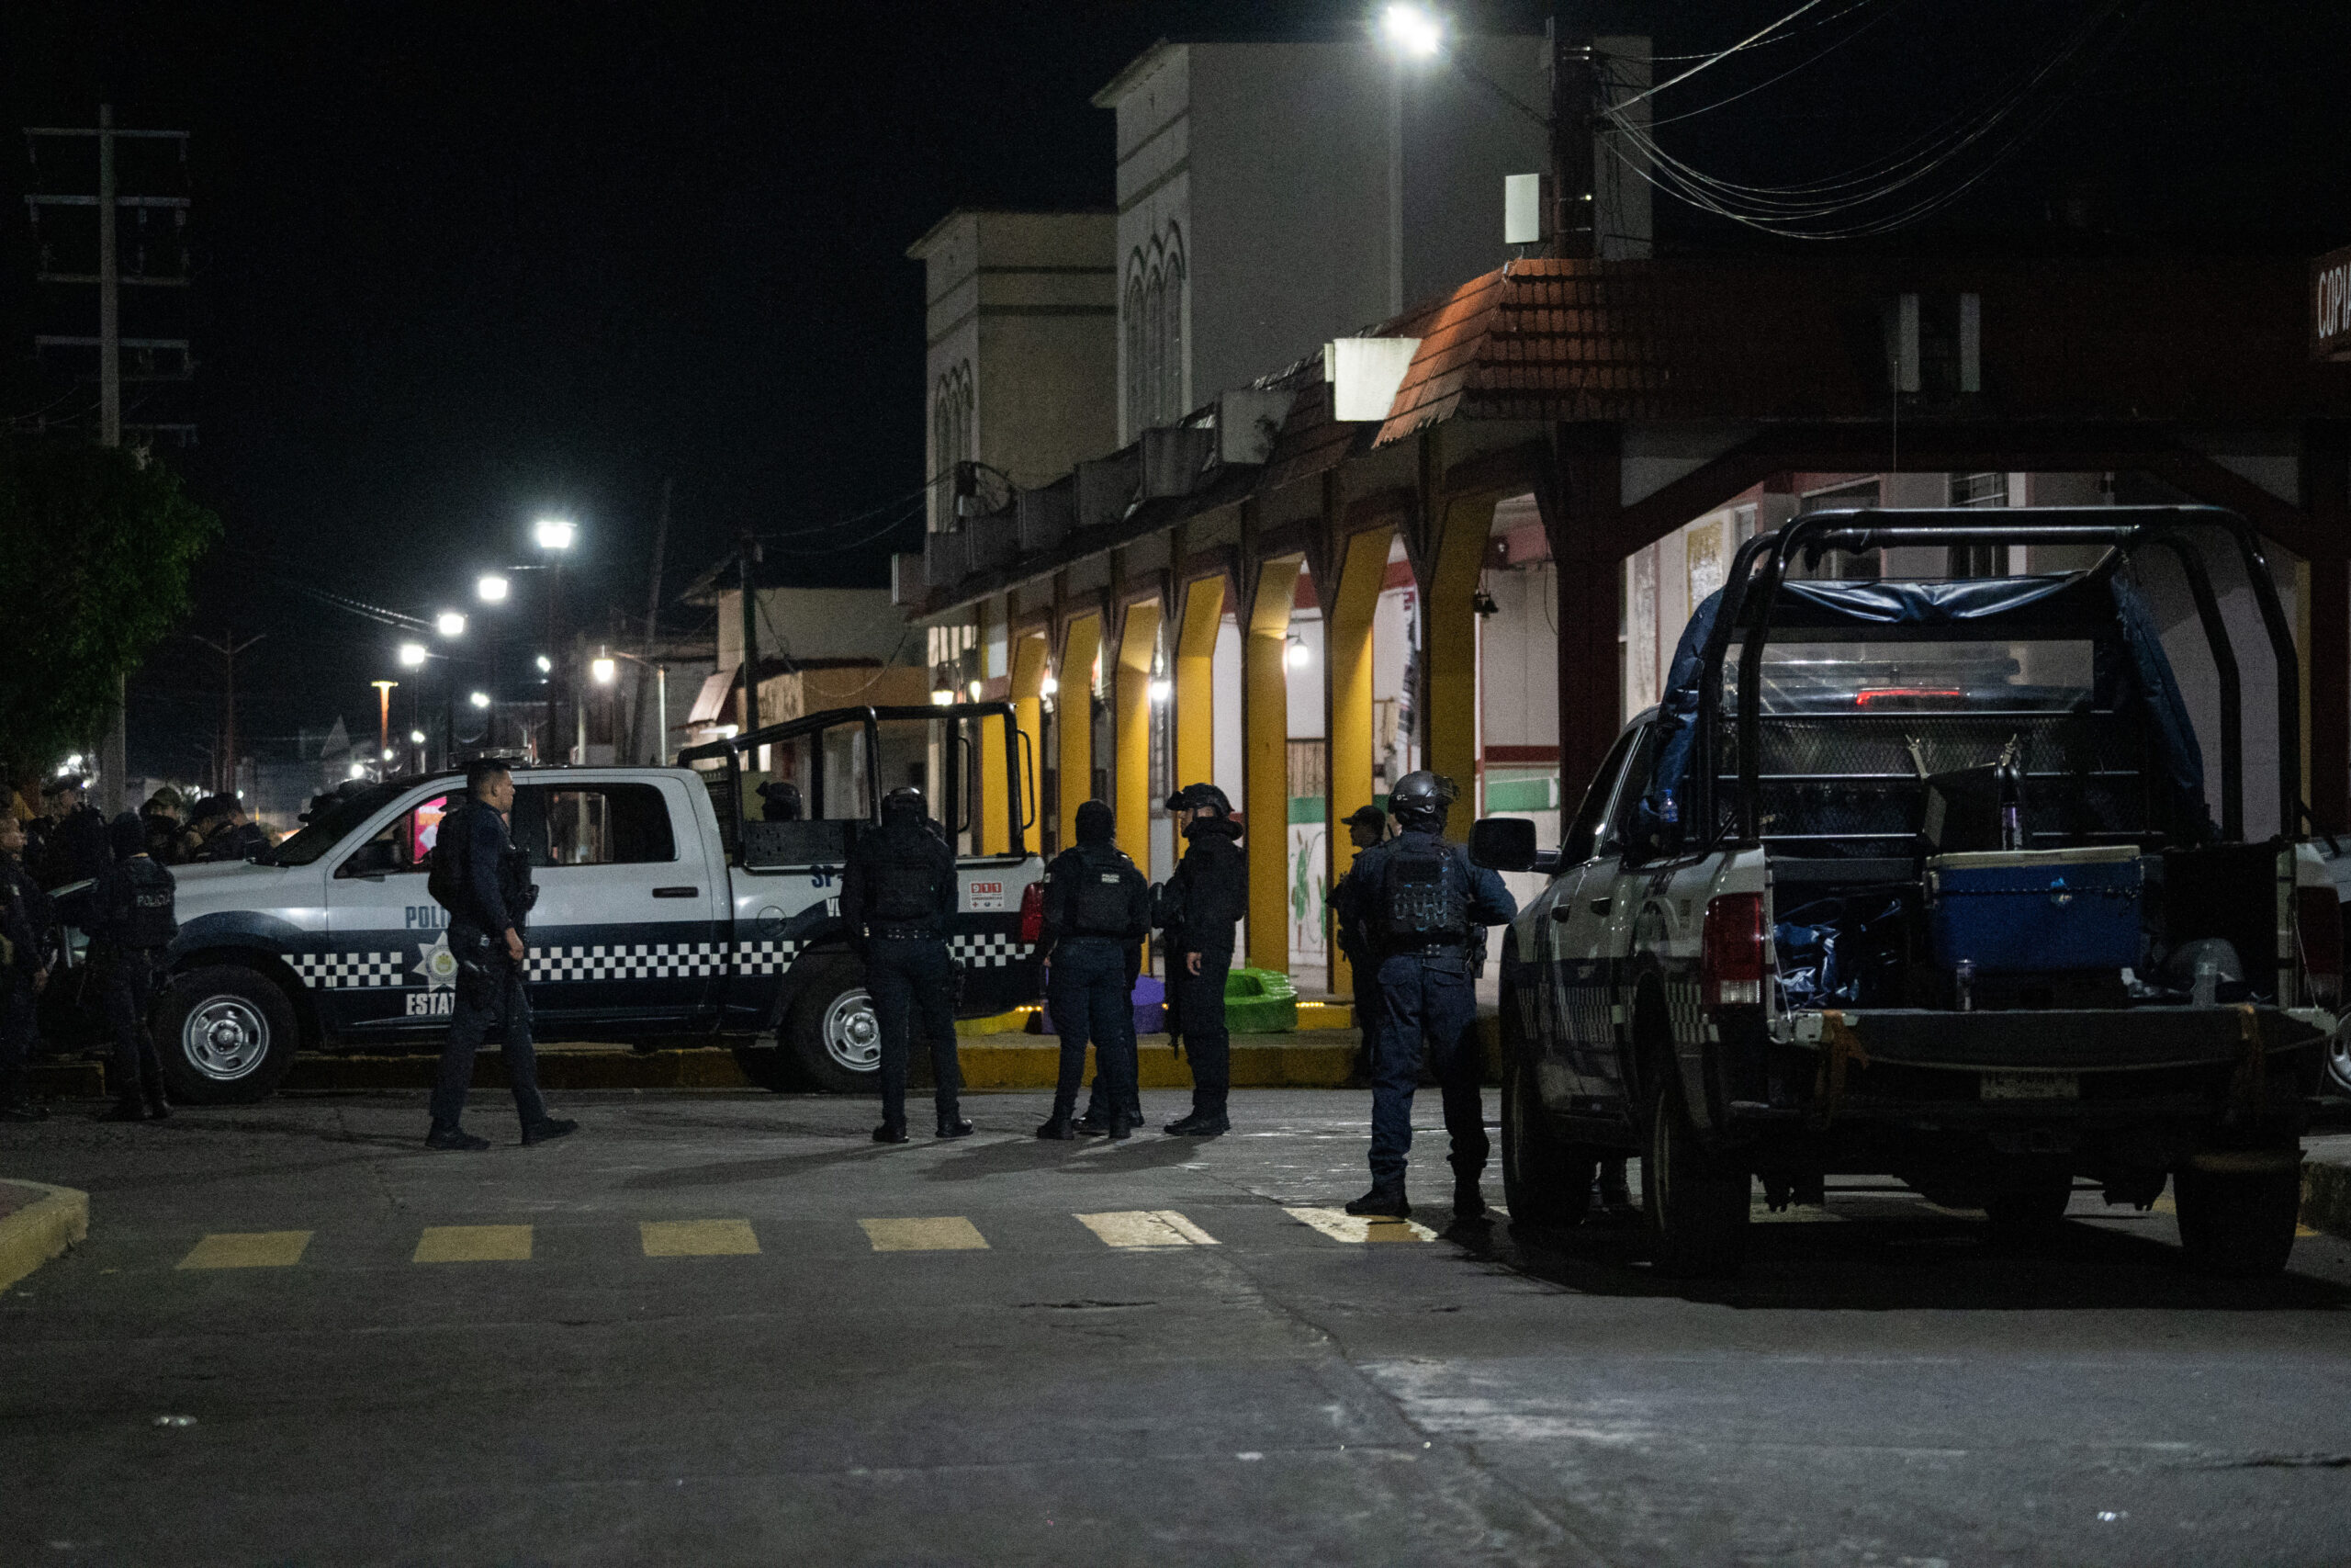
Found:
[(1248, 827), (1248, 966), (1291, 971), (1291, 602), (1302, 555), (1258, 567), (1241, 637), (1241, 795)]

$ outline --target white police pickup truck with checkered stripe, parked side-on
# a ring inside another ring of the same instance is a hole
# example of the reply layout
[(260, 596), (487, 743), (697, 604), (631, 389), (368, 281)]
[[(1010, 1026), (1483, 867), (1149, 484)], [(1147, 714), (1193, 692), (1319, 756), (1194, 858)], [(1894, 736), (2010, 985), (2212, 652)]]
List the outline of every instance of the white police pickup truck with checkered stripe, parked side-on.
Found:
[[(957, 1006), (1039, 992), (1044, 860), (1034, 762), (1006, 703), (842, 708), (689, 750), (682, 766), (515, 764), (534, 865), (538, 1039), (703, 1039), (771, 1088), (875, 1084), (879, 1030), (839, 922), (839, 879), (882, 795), (924, 785), (957, 846)], [(1002, 778), (983, 776), (983, 769)], [(759, 820), (790, 780), (802, 820)], [(245, 865), (179, 867), (179, 940), (155, 1009), (172, 1093), (268, 1095), (296, 1048), (428, 1044), (456, 997), (423, 856), (463, 780), (388, 780)]]

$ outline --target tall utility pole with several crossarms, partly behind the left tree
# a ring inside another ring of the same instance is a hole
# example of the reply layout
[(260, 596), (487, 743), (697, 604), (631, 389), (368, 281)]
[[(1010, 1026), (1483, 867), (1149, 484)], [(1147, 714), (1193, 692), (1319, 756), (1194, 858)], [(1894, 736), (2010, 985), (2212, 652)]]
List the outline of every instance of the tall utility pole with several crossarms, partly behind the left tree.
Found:
[[(56, 136), (94, 136), (99, 146), (99, 181), (92, 195), (61, 195), (61, 193), (28, 193), (26, 209), (33, 219), (33, 233), (40, 237), (40, 214), (47, 207), (96, 207), (99, 235), (96, 235), (96, 270), (92, 273), (61, 273), (49, 266), (49, 249), (42, 244), (35, 282), (66, 282), (66, 284), (96, 284), (99, 289), (99, 336), (49, 336), (38, 334), (33, 339), (35, 348), (96, 348), (99, 350), (99, 444), (120, 447), (122, 444), (122, 242), (120, 242), (120, 212), (122, 207), (139, 209), (141, 235), (146, 233), (146, 216), (150, 209), (176, 209), (181, 228), (181, 270), (179, 275), (148, 273), (141, 266), (132, 282), (155, 284), (155, 287), (188, 287), (186, 277), (186, 223), (188, 223), (188, 197), (172, 195), (122, 195), (115, 167), (115, 143), (125, 136), (136, 139), (162, 139), (179, 143), (181, 165), (188, 160), (188, 132), (132, 132), (115, 127), (115, 106), (99, 103), (96, 127), (47, 127), (28, 125), (24, 127), (26, 155), (33, 167), (40, 167), (40, 143), (42, 139)], [(181, 357), (181, 371), (188, 369), (188, 339), (136, 339), (132, 343), (141, 353), (153, 355), (155, 350), (176, 350)], [(193, 425), (169, 425), (183, 437), (193, 435)], [(99, 799), (108, 816), (129, 809), (129, 797), (125, 785), (129, 783), (129, 733), (125, 710), (129, 705), (127, 679), (115, 679), (115, 715), (106, 726), (106, 738), (99, 743)]]

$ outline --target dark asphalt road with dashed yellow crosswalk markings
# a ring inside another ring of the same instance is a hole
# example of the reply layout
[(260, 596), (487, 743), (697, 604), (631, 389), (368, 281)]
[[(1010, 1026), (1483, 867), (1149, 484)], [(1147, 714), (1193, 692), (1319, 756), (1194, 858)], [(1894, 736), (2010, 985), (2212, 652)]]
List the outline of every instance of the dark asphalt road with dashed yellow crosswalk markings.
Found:
[(2351, 1556), (2335, 1239), (2231, 1286), (2095, 1194), (2012, 1253), (1831, 1190), (1686, 1288), (1622, 1227), (1352, 1239), (1368, 1095), (1237, 1100), (1124, 1147), (1039, 1095), (907, 1147), (757, 1093), (567, 1095), (536, 1150), (477, 1095), (487, 1154), (411, 1095), (9, 1128), (92, 1237), (0, 1298), (0, 1563)]

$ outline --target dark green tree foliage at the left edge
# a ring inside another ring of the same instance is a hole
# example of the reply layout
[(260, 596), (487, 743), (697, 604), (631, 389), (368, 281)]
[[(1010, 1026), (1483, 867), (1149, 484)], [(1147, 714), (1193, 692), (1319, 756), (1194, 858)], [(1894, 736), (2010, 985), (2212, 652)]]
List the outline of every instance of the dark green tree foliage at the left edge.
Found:
[(108, 722), (188, 611), (221, 520), (153, 456), (0, 442), (0, 764), (40, 769)]

